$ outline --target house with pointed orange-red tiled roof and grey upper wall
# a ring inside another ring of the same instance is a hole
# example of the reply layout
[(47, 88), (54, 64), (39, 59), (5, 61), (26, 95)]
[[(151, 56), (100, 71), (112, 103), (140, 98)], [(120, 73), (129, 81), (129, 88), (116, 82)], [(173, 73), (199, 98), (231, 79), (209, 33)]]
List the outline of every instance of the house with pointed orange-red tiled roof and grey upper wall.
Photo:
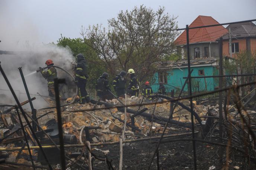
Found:
[[(207, 26), (219, 24), (211, 16), (199, 15), (189, 27)], [(218, 41), (228, 31), (223, 26), (204, 27), (189, 30), (189, 48), (191, 59), (218, 58)], [(182, 58), (186, 59), (186, 30), (175, 40), (177, 47), (181, 48)]]

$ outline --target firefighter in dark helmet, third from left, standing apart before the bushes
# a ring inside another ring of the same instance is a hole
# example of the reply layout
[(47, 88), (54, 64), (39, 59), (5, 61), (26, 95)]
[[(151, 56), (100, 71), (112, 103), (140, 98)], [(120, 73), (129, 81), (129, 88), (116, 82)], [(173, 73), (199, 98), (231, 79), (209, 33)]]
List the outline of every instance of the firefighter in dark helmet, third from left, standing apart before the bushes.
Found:
[[(96, 90), (97, 90), (97, 96), (101, 98), (102, 100), (108, 99), (107, 95), (110, 94), (110, 88), (108, 84), (108, 73), (104, 72), (102, 75), (97, 79), (96, 82)], [(109, 90), (109, 91), (108, 91)]]

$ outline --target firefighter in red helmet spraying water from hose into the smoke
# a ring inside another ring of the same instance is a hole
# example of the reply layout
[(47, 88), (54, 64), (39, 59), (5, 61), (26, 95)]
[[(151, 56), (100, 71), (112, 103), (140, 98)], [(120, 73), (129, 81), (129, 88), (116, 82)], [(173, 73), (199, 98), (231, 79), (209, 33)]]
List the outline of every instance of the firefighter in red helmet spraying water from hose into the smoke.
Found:
[(47, 79), (48, 81), (48, 93), (49, 97), (55, 97), (54, 92), (54, 79), (57, 78), (57, 70), (54, 67), (51, 67), (54, 65), (51, 59), (47, 60), (45, 62), (47, 66), (50, 66), (47, 68), (47, 71), (45, 71), (43, 68), (39, 67), (39, 71), (41, 72), (42, 76)]

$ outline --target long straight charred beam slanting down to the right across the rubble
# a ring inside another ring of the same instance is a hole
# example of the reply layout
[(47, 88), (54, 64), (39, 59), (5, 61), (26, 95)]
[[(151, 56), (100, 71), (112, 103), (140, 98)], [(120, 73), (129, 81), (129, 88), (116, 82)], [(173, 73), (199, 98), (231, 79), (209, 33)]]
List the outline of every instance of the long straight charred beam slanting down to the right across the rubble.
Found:
[[(96, 102), (97, 101), (95, 101), (95, 100), (91, 100), (92, 104), (96, 104)], [(98, 105), (105, 105), (105, 107), (116, 107), (116, 105), (113, 105), (113, 104), (110, 104), (110, 103), (107, 103), (107, 102), (98, 102)], [(124, 112), (124, 107), (117, 107), (117, 109), (121, 112)], [(127, 112), (131, 113), (131, 114), (136, 114), (137, 113), (137, 111), (129, 109), (129, 108), (127, 108)], [(168, 121), (168, 118), (157, 117), (156, 115), (151, 115), (151, 114), (148, 114), (148, 113), (145, 113), (145, 112), (141, 113), (140, 115), (143, 116), (143, 117), (146, 117), (148, 120), (151, 120), (151, 121), (152, 121), (152, 117), (153, 117), (153, 121), (155, 121), (155, 120), (162, 120), (164, 122)], [(175, 121), (175, 120), (170, 120), (169, 122), (172, 123), (172, 124), (175, 124), (175, 125), (182, 126), (182, 127), (191, 128), (190, 123), (183, 123), (183, 122), (179, 122), (179, 121)]]

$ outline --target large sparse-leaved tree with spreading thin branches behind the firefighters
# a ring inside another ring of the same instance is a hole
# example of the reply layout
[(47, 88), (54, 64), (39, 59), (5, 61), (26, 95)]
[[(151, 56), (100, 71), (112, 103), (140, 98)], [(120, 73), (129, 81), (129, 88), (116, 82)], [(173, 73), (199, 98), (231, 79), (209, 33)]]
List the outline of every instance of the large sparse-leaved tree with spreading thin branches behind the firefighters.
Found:
[(121, 11), (108, 21), (108, 29), (94, 25), (81, 35), (112, 75), (133, 68), (139, 82), (145, 82), (156, 72), (156, 63), (175, 52), (175, 19), (162, 7), (155, 12), (142, 5)]

